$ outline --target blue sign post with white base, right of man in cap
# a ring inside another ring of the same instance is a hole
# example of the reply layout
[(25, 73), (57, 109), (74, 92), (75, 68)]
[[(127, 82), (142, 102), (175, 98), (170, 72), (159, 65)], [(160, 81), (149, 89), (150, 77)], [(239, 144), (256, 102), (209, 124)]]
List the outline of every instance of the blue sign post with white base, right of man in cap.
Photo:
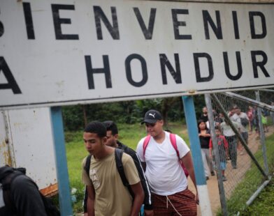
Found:
[(200, 200), (201, 215), (212, 215), (210, 199), (208, 196), (208, 187), (206, 185), (205, 172), (203, 171), (203, 161), (201, 155), (201, 146), (197, 128), (196, 114), (192, 96), (182, 96), (184, 104), (185, 118), (187, 121), (187, 132), (189, 134), (190, 148), (192, 151), (192, 160), (194, 164), (194, 173), (196, 185)]

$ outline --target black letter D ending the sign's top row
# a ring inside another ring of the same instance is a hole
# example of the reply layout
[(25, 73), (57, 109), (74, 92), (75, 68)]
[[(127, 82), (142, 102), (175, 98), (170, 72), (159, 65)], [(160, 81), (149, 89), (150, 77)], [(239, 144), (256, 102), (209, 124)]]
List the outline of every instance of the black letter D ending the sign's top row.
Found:
[[(261, 34), (257, 34), (255, 29), (258, 29), (258, 26), (254, 26), (254, 16), (261, 17)], [(266, 17), (264, 14), (259, 11), (250, 11), (250, 31), (251, 31), (251, 38), (252, 39), (259, 39), (266, 37)]]

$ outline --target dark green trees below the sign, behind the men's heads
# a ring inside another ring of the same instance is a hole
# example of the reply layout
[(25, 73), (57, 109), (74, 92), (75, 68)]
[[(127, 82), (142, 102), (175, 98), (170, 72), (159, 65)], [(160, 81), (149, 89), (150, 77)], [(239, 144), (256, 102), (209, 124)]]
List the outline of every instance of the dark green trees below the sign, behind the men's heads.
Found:
[[(203, 95), (194, 96), (194, 105), (197, 116), (200, 116), (205, 105)], [(90, 121), (139, 123), (149, 109), (159, 110), (165, 125), (168, 125), (168, 121), (184, 121), (185, 118), (180, 97), (105, 102), (63, 107), (64, 128), (66, 131), (82, 130)]]

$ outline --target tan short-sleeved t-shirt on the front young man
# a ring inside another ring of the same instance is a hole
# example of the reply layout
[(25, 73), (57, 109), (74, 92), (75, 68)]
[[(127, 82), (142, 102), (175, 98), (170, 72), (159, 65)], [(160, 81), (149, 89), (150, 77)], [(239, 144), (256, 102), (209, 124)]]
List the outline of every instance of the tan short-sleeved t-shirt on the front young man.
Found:
[[(132, 197), (129, 190), (122, 183), (115, 163), (115, 153), (96, 160), (92, 157), (89, 176), (85, 171), (85, 161), (82, 162), (82, 183), (94, 185), (95, 190), (95, 215), (129, 216), (132, 206)], [(138, 171), (131, 156), (123, 153), (122, 164), (129, 185), (140, 181)], [(90, 178), (89, 178), (90, 177)], [(92, 179), (92, 181), (90, 180)]]

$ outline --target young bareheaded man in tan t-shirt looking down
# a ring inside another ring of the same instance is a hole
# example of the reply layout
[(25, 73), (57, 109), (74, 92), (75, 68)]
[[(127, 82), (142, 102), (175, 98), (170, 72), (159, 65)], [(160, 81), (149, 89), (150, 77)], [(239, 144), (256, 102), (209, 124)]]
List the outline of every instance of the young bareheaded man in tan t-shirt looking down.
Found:
[(94, 121), (84, 130), (85, 148), (92, 155), (89, 175), (82, 162), (82, 183), (87, 187), (88, 215), (137, 216), (143, 203), (144, 192), (133, 159), (122, 154), (125, 176), (134, 198), (122, 183), (116, 168), (115, 148), (106, 146), (106, 127)]

